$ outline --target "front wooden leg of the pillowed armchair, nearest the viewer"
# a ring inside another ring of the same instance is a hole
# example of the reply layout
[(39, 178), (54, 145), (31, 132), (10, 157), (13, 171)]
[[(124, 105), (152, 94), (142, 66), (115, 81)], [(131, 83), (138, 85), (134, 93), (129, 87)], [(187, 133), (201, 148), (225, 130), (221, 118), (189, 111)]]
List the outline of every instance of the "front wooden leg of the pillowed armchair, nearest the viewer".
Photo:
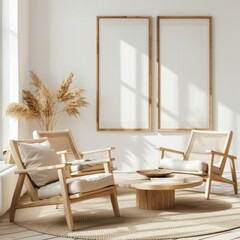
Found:
[(69, 230), (73, 231), (74, 223), (73, 223), (73, 217), (72, 217), (72, 210), (71, 210), (71, 206), (70, 206), (70, 202), (69, 202), (66, 178), (65, 178), (63, 169), (58, 169), (58, 176), (59, 176), (59, 181), (61, 184), (64, 213), (66, 215), (67, 225), (68, 225)]

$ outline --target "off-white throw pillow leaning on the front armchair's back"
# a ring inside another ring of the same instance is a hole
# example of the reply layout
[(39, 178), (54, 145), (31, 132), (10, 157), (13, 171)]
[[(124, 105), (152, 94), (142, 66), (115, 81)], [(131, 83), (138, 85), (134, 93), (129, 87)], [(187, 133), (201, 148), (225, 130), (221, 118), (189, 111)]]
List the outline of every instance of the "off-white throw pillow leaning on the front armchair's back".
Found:
[[(49, 141), (42, 143), (18, 143), (18, 147), (27, 169), (61, 164), (60, 158), (51, 148)], [(31, 172), (29, 176), (38, 187), (58, 181), (57, 170)]]

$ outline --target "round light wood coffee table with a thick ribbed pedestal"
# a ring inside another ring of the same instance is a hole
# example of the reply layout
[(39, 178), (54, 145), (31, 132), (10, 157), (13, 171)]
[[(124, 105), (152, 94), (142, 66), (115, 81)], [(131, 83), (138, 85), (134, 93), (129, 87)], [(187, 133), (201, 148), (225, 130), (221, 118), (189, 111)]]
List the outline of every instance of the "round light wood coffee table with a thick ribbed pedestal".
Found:
[(175, 190), (199, 186), (201, 177), (189, 174), (169, 174), (163, 178), (152, 178), (137, 173), (114, 174), (119, 187), (136, 189), (136, 206), (147, 210), (174, 208)]

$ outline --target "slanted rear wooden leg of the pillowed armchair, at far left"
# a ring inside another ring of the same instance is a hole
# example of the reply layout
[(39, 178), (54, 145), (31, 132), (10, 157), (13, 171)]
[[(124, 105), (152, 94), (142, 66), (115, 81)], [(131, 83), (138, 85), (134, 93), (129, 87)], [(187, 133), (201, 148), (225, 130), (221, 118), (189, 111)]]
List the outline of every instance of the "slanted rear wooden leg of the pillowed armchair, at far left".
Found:
[(18, 176), (18, 181), (17, 181), (16, 187), (15, 187), (11, 207), (10, 207), (10, 210), (9, 210), (9, 218), (10, 218), (11, 222), (13, 222), (14, 218), (15, 218), (16, 205), (18, 204), (19, 199), (20, 199), (20, 195), (21, 195), (21, 192), (22, 192), (25, 176), (26, 175), (23, 174), (23, 173), (19, 174), (19, 176)]

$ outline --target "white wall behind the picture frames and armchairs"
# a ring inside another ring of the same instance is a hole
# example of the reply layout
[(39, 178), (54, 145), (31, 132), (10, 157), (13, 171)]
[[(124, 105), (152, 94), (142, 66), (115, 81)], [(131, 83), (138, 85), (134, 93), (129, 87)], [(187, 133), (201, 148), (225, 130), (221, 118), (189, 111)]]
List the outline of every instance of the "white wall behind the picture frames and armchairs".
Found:
[[(64, 117), (57, 129), (69, 128), (80, 150), (116, 146), (119, 170), (156, 167), (155, 146), (185, 149), (189, 133), (156, 130), (155, 24), (157, 15), (213, 16), (214, 129), (234, 132), (231, 153), (240, 152), (240, 1), (239, 0), (31, 0), (30, 70), (52, 89), (69, 72), (86, 90), (90, 106), (80, 118)], [(96, 131), (96, 16), (153, 17), (153, 130)], [(35, 128), (32, 125), (32, 129)], [(240, 164), (237, 163), (240, 170)]]

